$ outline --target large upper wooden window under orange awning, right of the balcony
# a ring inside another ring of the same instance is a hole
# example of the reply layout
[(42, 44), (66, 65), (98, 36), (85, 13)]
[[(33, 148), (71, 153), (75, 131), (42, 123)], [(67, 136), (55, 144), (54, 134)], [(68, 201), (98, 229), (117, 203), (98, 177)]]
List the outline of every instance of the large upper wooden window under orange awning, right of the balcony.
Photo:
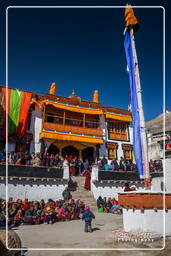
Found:
[(110, 140), (128, 141), (128, 124), (120, 121), (108, 121), (108, 137)]

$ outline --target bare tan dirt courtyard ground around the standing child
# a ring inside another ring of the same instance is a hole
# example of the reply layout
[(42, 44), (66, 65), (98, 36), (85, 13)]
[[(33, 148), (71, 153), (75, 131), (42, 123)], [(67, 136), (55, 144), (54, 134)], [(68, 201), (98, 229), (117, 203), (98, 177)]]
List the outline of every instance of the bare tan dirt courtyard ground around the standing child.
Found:
[[(166, 239), (166, 248), (164, 250), (161, 250), (163, 247), (162, 239), (146, 244), (114, 241), (114, 230), (122, 228), (122, 216), (120, 215), (96, 213), (93, 228), (93, 233), (85, 233), (84, 222), (82, 220), (74, 220), (58, 222), (52, 225), (20, 226), (18, 230), (16, 229), (16, 232), (22, 240), (25, 256), (95, 256), (97, 254), (102, 256), (127, 256), (130, 254), (131, 256), (171, 255), (170, 238)], [(46, 248), (46, 250), (43, 248)], [(50, 248), (59, 250), (51, 250)], [(64, 250), (64, 248), (68, 250)], [(89, 248), (92, 250), (88, 250)], [(98, 248), (102, 248), (102, 250), (99, 251), (97, 250)], [(125, 250), (122, 248), (125, 248)], [(141, 248), (145, 249), (145, 251), (142, 251)]]

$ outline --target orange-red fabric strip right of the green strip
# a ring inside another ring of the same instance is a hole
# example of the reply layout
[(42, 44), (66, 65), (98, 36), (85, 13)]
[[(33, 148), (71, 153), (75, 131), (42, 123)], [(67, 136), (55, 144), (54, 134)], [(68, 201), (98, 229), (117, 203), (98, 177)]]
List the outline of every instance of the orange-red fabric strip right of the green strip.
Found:
[(18, 123), (18, 128), (17, 128), (17, 137), (18, 138), (23, 137), (25, 130), (27, 128), (28, 111), (30, 108), (31, 95), (32, 94), (30, 92), (23, 93), (19, 123)]

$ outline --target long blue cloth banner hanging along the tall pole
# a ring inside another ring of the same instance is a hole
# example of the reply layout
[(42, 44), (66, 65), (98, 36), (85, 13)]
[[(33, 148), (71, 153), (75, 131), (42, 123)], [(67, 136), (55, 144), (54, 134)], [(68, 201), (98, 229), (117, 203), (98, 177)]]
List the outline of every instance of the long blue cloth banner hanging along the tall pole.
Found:
[(126, 31), (124, 47), (127, 59), (127, 65), (129, 69), (129, 82), (131, 89), (131, 105), (132, 105), (132, 120), (133, 120), (133, 150), (136, 165), (140, 178), (144, 175), (144, 165), (142, 156), (142, 141), (141, 141), (141, 127), (140, 127), (140, 116), (138, 109), (138, 98), (137, 98), (137, 88), (135, 79), (135, 63), (133, 57), (133, 49), (131, 42), (131, 35), (129, 31)]

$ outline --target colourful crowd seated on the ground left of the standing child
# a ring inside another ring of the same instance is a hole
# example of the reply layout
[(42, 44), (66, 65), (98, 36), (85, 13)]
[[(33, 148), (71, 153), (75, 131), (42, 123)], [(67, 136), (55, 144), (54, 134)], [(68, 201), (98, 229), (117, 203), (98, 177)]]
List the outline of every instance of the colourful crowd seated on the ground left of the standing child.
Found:
[[(53, 224), (58, 221), (80, 219), (85, 205), (81, 200), (49, 199), (48, 202), (16, 200), (8, 201), (8, 224), (12, 226), (21, 224)], [(0, 226), (6, 223), (6, 201), (0, 199)]]

